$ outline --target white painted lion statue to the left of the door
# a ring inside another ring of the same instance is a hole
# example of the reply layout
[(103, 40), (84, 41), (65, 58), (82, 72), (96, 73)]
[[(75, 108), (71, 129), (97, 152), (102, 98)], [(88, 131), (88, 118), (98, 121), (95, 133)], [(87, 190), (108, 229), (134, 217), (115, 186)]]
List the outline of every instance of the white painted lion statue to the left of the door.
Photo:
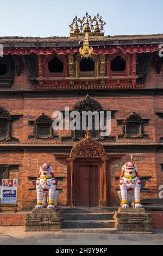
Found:
[(57, 206), (59, 191), (56, 191), (57, 181), (53, 173), (53, 167), (44, 163), (40, 167), (39, 176), (36, 181), (37, 205), (35, 209), (54, 209)]

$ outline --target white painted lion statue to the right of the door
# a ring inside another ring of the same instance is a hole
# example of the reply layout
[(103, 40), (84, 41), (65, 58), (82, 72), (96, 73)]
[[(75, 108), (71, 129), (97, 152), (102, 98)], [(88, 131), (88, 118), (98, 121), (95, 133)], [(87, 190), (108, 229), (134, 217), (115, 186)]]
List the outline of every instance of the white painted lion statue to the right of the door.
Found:
[(121, 200), (122, 208), (142, 208), (140, 203), (141, 181), (137, 173), (137, 167), (131, 162), (124, 164), (120, 177), (120, 188), (118, 196)]

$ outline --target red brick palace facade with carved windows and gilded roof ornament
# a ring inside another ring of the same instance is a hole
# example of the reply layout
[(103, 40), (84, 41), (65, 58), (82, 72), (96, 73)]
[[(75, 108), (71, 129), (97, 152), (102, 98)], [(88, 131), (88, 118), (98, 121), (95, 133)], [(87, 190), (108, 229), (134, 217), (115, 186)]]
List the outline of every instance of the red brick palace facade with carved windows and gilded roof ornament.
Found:
[[(19, 209), (35, 206), (44, 162), (54, 167), (59, 205), (81, 205), (81, 159), (72, 161), (70, 152), (84, 133), (52, 129), (53, 112), (64, 107), (111, 111), (111, 135), (92, 131), (105, 159), (82, 159), (82, 166), (99, 166), (99, 205), (120, 203), (121, 164), (127, 161), (138, 167), (142, 198), (158, 198), (163, 185), (163, 35), (104, 36), (98, 16), (84, 31), (74, 20), (69, 38), (0, 38), (0, 178), (18, 179)], [(82, 47), (88, 50), (83, 55)]]

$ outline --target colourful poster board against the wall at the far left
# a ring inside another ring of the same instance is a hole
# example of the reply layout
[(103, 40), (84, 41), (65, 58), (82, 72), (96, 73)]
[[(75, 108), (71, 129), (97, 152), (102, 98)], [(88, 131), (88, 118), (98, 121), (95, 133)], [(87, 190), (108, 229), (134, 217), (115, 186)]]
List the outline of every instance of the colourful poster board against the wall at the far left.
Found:
[(17, 179), (3, 179), (1, 188), (1, 203), (16, 204), (17, 202)]

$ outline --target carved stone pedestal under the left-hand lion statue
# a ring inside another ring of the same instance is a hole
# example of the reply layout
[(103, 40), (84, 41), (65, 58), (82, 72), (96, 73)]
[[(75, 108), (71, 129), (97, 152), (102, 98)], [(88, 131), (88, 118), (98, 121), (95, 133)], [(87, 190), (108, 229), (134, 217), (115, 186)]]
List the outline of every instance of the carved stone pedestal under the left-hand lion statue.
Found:
[(60, 231), (61, 217), (55, 209), (34, 209), (26, 215), (26, 231)]

